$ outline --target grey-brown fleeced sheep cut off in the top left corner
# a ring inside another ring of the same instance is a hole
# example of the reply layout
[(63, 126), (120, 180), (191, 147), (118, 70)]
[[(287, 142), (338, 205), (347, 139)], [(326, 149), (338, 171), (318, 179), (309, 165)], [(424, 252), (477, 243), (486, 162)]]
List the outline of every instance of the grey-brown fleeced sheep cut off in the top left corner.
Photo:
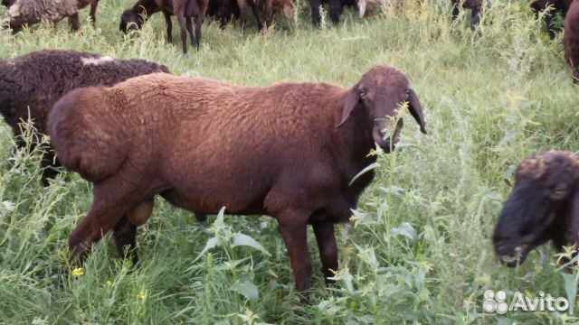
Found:
[(65, 17), (68, 17), (72, 31), (77, 31), (81, 27), (79, 10), (90, 5), (90, 19), (94, 24), (99, 0), (15, 0), (8, 5), (8, 27), (14, 33), (20, 32), (24, 25), (58, 23)]

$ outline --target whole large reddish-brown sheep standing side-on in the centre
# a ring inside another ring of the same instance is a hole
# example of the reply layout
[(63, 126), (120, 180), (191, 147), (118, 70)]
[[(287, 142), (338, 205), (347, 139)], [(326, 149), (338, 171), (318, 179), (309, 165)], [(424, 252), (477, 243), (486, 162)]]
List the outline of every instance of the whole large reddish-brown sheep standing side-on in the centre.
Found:
[(74, 90), (55, 104), (48, 122), (62, 165), (94, 183), (90, 211), (69, 237), (71, 257), (81, 261), (113, 230), (119, 252), (131, 246), (136, 261), (136, 226), (147, 221), (160, 194), (197, 214), (224, 206), (233, 214), (273, 216), (296, 288), (306, 290), (308, 224), (323, 273), (332, 276), (334, 223), (350, 217), (374, 173), (350, 181), (375, 162), (368, 155), (375, 144), (386, 153), (394, 148), (403, 122), (393, 117), (405, 102), (426, 133), (408, 80), (386, 67), (369, 70), (347, 89), (321, 83), (247, 88), (157, 73), (112, 88)]

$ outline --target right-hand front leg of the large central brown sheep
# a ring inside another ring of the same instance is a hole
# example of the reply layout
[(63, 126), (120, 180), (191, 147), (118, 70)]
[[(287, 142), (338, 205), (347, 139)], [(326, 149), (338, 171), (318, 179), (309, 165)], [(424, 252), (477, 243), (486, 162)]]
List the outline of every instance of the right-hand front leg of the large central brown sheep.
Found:
[(318, 241), (319, 257), (322, 260), (322, 273), (326, 284), (334, 283), (329, 278), (337, 271), (337, 245), (334, 235), (334, 224), (331, 222), (318, 222), (312, 224), (314, 234)]

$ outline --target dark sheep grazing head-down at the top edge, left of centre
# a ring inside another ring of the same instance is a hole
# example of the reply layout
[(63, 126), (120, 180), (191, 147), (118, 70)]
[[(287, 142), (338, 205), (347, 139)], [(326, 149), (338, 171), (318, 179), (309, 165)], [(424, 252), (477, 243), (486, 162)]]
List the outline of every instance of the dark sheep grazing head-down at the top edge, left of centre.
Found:
[[(140, 29), (143, 26), (143, 16), (147, 18), (159, 11), (163, 12), (166, 22), (166, 42), (173, 42), (171, 36), (173, 24), (171, 16), (176, 15), (181, 34), (183, 52), (187, 52), (187, 32), (191, 37), (191, 46), (195, 44), (197, 50), (201, 43), (201, 26), (203, 25), (208, 0), (138, 0), (132, 8), (127, 9), (120, 16), (119, 29), (128, 32), (131, 29)], [(195, 21), (195, 34), (193, 23)]]

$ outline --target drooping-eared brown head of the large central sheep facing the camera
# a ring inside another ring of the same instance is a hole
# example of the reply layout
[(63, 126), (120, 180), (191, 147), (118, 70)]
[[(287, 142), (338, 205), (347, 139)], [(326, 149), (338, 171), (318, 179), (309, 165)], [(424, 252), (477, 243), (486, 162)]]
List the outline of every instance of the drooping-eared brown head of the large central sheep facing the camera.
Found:
[[(384, 152), (390, 153), (398, 142), (403, 126), (402, 118), (396, 119), (395, 116), (398, 108), (405, 102), (408, 102), (410, 113), (420, 125), (422, 133), (426, 134), (422, 107), (413, 89), (410, 88), (408, 79), (394, 68), (377, 66), (366, 72), (356, 86), (348, 90), (342, 108), (342, 118), (337, 127), (344, 125), (355, 109), (364, 110), (370, 124), (368, 126), (372, 127), (375, 143)], [(391, 129), (387, 126), (389, 122), (394, 122)]]

